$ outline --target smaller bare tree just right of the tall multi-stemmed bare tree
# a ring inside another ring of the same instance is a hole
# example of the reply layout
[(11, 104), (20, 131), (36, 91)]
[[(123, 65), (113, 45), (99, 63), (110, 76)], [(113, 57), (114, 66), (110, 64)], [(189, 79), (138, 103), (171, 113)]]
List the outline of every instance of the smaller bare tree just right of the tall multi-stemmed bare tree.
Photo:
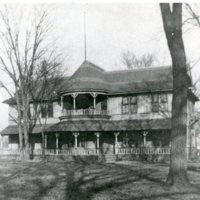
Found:
[[(57, 99), (57, 91), (61, 87), (63, 73), (60, 70), (62, 63), (55, 63), (54, 60), (43, 60), (40, 65), (40, 70), (37, 72), (30, 90), (32, 100), (30, 133), (38, 122), (41, 126), (42, 158), (45, 158), (45, 130), (47, 128), (48, 107)], [(42, 109), (45, 112), (43, 117), (41, 115)]]

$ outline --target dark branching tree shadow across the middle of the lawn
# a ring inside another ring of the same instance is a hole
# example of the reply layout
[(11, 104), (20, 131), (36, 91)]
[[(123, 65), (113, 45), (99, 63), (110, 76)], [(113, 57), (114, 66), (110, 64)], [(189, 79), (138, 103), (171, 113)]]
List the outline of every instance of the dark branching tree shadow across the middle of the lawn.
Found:
[[(85, 163), (84, 163), (85, 164)], [(103, 169), (98, 172), (99, 169)], [(66, 188), (66, 200), (90, 200), (94, 195), (103, 191), (109, 191), (122, 187), (141, 179), (148, 178), (150, 181), (161, 184), (157, 179), (150, 179), (151, 171), (139, 173), (137, 170), (127, 170), (114, 164), (98, 164), (97, 166), (85, 164), (78, 172), (79, 178), (75, 178), (75, 171), (68, 177)], [(76, 180), (75, 180), (76, 179)]]

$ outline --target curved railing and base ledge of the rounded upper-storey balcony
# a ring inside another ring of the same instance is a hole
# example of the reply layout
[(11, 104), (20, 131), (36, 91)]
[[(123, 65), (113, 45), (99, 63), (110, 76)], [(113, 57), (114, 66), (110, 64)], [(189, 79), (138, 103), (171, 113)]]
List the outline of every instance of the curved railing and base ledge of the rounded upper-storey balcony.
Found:
[(65, 119), (109, 119), (110, 116), (107, 110), (97, 109), (74, 109), (63, 110), (60, 120)]

